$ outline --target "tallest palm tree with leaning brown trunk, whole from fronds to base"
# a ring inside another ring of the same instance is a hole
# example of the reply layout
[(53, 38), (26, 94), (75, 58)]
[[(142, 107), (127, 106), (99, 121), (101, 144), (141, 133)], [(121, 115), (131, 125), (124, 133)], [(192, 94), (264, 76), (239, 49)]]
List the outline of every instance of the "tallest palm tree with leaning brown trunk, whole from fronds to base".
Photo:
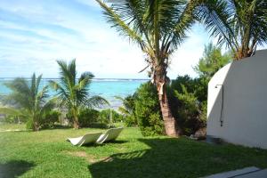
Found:
[[(158, 100), (166, 134), (177, 136), (181, 129), (175, 121), (166, 97), (167, 68), (170, 56), (182, 44), (194, 23), (197, 2), (184, 0), (124, 0), (108, 6), (96, 0), (108, 22), (120, 35), (138, 44), (146, 54), (149, 76), (157, 85)], [(144, 69), (143, 69), (144, 70)], [(143, 71), (142, 70), (142, 71)]]

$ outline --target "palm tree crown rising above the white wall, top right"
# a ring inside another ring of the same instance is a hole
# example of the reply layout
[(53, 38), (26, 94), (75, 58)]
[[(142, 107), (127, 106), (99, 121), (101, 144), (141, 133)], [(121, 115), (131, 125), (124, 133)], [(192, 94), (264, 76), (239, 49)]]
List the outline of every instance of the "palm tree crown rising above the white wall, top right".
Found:
[(255, 54), (267, 42), (267, 1), (204, 0), (198, 15), (218, 44), (226, 44), (235, 60)]

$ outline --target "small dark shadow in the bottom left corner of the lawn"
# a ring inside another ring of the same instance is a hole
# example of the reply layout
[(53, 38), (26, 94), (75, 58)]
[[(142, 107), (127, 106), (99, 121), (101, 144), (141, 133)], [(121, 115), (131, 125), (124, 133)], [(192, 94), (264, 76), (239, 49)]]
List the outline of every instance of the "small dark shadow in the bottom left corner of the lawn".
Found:
[(18, 177), (28, 170), (30, 170), (33, 166), (33, 163), (29, 163), (23, 160), (12, 160), (7, 163), (0, 163), (0, 177), (1, 178), (14, 178)]

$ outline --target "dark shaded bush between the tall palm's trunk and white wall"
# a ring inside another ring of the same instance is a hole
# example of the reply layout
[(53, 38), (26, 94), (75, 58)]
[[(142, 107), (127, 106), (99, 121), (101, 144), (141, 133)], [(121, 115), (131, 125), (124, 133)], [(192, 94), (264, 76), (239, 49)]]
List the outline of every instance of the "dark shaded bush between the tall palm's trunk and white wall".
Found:
[(170, 108), (184, 134), (206, 125), (207, 79), (179, 76), (167, 88)]

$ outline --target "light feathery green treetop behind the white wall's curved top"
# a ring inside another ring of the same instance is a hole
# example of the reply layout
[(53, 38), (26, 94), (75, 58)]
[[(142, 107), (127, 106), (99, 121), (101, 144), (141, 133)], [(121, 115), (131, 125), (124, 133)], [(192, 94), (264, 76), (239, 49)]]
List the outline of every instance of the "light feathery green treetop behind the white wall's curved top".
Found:
[(210, 79), (227, 63), (231, 62), (231, 54), (222, 54), (221, 48), (210, 43), (205, 46), (203, 57), (198, 61), (194, 70), (199, 77)]

